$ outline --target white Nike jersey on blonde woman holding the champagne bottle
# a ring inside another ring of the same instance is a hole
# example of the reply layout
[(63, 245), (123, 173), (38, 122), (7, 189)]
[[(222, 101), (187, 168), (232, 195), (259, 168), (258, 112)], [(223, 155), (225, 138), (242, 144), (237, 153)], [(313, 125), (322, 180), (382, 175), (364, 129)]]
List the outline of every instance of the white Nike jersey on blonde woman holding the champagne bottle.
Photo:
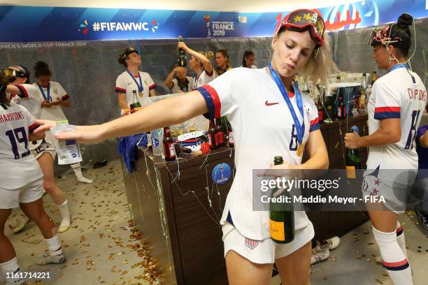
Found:
[[(266, 68), (234, 68), (199, 88), (211, 118), (227, 116), (234, 131), (236, 176), (227, 196), (221, 223), (230, 211), (234, 226), (245, 238), (264, 240), (270, 237), (269, 212), (252, 210), (252, 170), (269, 168), (274, 156), (285, 162), (301, 164), (297, 155), (297, 131), (287, 103)], [(311, 98), (302, 94), (306, 126), (309, 133), (319, 129), (318, 111)], [(295, 96), (291, 98), (295, 110)], [(295, 228), (309, 224), (305, 212), (294, 212)]]

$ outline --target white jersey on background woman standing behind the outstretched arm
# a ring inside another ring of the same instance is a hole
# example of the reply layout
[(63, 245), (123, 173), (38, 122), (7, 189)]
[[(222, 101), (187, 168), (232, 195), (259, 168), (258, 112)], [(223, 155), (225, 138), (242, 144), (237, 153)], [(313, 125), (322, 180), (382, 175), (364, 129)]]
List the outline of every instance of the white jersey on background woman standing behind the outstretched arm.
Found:
[[(115, 92), (116, 93), (124, 93), (127, 95), (127, 106), (131, 105), (131, 103), (134, 103), (134, 95), (133, 91), (136, 91), (138, 101), (143, 105), (143, 98), (147, 98), (149, 96), (149, 91), (156, 88), (155, 82), (153, 82), (150, 75), (146, 72), (138, 71), (138, 77), (132, 78), (127, 71), (124, 71), (119, 76), (117, 76), (116, 79), (116, 87)], [(138, 92), (138, 85), (140, 84), (140, 78), (141, 82), (143, 83), (143, 96), (140, 96), (140, 92)], [(138, 82), (138, 85), (136, 84)]]

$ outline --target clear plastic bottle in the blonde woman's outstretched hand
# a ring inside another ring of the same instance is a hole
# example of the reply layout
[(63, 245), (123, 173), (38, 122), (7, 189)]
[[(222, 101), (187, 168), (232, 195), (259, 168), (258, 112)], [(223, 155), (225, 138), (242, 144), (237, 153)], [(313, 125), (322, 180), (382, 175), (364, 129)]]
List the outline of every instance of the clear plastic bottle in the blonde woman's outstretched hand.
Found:
[[(50, 129), (52, 134), (64, 131), (73, 131), (74, 126), (69, 125), (69, 121), (59, 121)], [(58, 164), (73, 164), (82, 161), (82, 154), (77, 140), (57, 140), (55, 149), (58, 154)]]

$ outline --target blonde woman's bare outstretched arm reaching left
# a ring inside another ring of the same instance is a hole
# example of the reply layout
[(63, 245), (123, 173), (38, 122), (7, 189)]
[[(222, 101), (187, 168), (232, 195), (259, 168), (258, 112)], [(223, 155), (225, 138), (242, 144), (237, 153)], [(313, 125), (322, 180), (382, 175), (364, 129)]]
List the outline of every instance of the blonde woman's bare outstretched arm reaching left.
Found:
[[(77, 139), (82, 142), (98, 142), (118, 136), (128, 136), (143, 131), (151, 131), (185, 122), (187, 119), (208, 112), (204, 97), (197, 91), (182, 96), (167, 98), (153, 103), (132, 115), (115, 119), (111, 122), (95, 126), (76, 126), (75, 131), (61, 133), (58, 139)], [(52, 122), (36, 120), (41, 124), (36, 132), (45, 131), (54, 126)]]

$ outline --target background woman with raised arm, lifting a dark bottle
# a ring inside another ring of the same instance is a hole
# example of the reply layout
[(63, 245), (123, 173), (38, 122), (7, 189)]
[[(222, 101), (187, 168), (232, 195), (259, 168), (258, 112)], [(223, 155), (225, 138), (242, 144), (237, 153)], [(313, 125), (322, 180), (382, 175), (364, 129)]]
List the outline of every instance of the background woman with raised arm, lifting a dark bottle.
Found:
[(213, 57), (212, 52), (195, 52), (184, 42), (178, 42), (178, 47), (183, 48), (185, 52), (192, 56), (189, 61), (190, 69), (197, 74), (197, 77), (194, 78), (194, 89), (214, 80), (215, 72), (210, 63), (210, 59)]

